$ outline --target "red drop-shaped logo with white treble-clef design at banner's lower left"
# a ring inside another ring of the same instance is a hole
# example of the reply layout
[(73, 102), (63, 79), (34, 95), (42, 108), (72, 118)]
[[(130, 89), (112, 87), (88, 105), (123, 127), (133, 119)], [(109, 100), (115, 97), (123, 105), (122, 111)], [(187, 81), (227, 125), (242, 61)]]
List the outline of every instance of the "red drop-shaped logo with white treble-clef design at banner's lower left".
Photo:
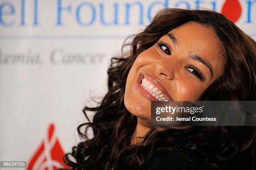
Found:
[(47, 137), (42, 141), (40, 147), (29, 161), (27, 170), (57, 170), (58, 168), (70, 168), (64, 164), (62, 160), (63, 155), (64, 152), (54, 133), (54, 124), (51, 124)]

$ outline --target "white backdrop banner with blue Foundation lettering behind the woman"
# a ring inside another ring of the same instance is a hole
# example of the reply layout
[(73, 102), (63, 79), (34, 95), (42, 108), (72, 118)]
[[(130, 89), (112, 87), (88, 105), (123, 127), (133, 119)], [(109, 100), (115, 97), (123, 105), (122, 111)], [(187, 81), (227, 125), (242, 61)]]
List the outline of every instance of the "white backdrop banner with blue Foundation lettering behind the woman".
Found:
[(0, 0), (0, 161), (65, 167), (110, 58), (165, 7), (218, 11), (256, 39), (256, 0)]

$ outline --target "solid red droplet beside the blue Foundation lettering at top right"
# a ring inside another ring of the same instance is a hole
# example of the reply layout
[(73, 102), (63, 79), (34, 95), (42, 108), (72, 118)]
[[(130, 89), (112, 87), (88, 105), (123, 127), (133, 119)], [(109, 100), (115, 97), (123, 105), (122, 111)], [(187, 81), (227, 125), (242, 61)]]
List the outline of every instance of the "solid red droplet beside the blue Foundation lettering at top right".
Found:
[(221, 13), (225, 15), (228, 20), (234, 23), (239, 20), (242, 13), (242, 7), (238, 0), (226, 0), (224, 3)]

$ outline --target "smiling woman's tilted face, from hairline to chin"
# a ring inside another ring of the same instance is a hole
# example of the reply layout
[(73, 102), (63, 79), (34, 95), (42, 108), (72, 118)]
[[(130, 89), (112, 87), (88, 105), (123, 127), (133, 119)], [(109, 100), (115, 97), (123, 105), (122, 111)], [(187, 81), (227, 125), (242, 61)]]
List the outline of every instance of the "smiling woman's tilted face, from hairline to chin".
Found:
[(213, 30), (199, 23), (171, 30), (136, 58), (126, 81), (125, 107), (150, 122), (151, 100), (198, 100), (223, 73), (221, 50)]

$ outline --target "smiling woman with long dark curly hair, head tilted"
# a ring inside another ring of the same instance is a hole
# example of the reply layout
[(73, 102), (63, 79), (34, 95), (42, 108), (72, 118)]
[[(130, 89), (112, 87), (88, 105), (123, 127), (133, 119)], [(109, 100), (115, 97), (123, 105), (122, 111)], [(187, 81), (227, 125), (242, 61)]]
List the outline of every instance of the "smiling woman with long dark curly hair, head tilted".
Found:
[(67, 165), (74, 170), (255, 169), (254, 126), (150, 123), (151, 101), (256, 100), (251, 37), (216, 12), (164, 9), (126, 45), (129, 55), (111, 60), (109, 91), (100, 105), (84, 107), (86, 117), (86, 110), (96, 113), (78, 127), (85, 141), (64, 156)]

